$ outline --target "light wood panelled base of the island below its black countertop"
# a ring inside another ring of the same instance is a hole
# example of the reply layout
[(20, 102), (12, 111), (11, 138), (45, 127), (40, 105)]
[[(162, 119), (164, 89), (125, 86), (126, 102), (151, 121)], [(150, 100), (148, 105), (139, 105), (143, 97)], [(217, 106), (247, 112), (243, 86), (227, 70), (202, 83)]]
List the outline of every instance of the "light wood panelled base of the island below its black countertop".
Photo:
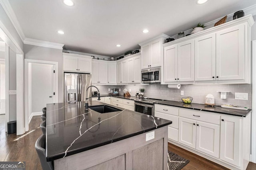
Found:
[(153, 131), (155, 131), (155, 138), (150, 141), (146, 141), (146, 133), (143, 133), (54, 160), (54, 169), (166, 170), (168, 126)]

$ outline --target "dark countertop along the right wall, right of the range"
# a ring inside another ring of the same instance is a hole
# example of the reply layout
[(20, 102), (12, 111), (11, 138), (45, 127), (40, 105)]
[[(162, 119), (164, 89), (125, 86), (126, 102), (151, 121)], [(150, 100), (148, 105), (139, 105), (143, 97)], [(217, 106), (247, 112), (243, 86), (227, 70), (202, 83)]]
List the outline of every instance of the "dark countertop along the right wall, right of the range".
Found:
[(204, 104), (184, 104), (182, 102), (176, 102), (176, 101), (160, 101), (157, 102), (157, 104), (167, 105), (167, 106), (175, 106), (175, 107), (182, 107), (182, 108), (188, 108), (188, 109), (195, 109), (200, 111), (210, 111), (214, 113), (221, 113), (226, 115), (234, 115), (234, 116), (240, 116), (240, 117), (246, 117), (248, 113), (250, 113), (250, 109), (248, 110), (238, 110), (238, 109), (228, 109), (223, 108), (221, 106), (205, 106)]

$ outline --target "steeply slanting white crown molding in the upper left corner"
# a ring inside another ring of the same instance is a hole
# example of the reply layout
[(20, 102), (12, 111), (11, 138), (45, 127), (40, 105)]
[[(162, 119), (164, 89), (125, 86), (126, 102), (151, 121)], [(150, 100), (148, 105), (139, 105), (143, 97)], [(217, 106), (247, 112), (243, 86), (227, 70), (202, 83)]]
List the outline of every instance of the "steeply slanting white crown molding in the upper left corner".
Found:
[(14, 11), (12, 10), (12, 7), (11, 7), (9, 1), (8, 0), (0, 0), (0, 4), (4, 8), (5, 13), (7, 14), (8, 18), (12, 22), (12, 25), (16, 29), (18, 35), (20, 36), (20, 39), (24, 43), (24, 39), (26, 38), (25, 34), (24, 34), (24, 32), (23, 32), (23, 30), (20, 26), (19, 21), (16, 18), (16, 15), (15, 15)]

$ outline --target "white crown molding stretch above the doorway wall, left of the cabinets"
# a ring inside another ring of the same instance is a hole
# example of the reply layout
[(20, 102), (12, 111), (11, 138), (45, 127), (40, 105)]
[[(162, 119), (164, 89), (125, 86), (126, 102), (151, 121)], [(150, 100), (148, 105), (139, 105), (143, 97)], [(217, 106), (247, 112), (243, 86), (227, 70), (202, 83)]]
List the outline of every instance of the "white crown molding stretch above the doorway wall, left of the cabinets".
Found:
[(42, 40), (31, 39), (31, 38), (25, 38), (24, 44), (48, 47), (53, 49), (61, 49), (61, 50), (63, 49), (63, 46), (64, 46), (64, 44), (52, 43), (48, 41), (42, 41)]

